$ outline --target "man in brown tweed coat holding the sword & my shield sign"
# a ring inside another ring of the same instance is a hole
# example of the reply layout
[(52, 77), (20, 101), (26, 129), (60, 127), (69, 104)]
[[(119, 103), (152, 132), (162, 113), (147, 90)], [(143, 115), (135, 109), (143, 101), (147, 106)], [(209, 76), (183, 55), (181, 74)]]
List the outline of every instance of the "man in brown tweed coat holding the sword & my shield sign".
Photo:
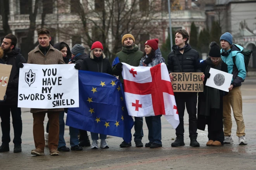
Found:
[[(50, 45), (51, 37), (47, 29), (40, 29), (38, 31), (39, 45), (28, 53), (29, 64), (39, 65), (54, 65), (65, 64), (62, 58), (61, 51), (53, 48)], [(59, 155), (58, 142), (59, 142), (59, 112), (64, 109), (32, 109), (33, 113), (33, 135), (36, 149), (31, 151), (32, 155), (44, 155), (45, 138), (43, 121), (45, 114), (49, 119), (49, 139), (48, 148), (51, 155)]]

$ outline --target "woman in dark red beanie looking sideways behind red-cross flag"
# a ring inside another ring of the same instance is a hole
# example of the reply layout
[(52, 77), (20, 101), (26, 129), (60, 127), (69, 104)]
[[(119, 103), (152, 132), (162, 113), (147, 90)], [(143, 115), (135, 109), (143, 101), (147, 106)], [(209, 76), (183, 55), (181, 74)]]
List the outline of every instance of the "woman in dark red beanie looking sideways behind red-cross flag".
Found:
[[(144, 57), (140, 60), (140, 66), (152, 67), (160, 63), (165, 63), (165, 61), (158, 48), (158, 39), (150, 39), (146, 41)], [(162, 115), (145, 117), (147, 128), (149, 129), (149, 143), (146, 143), (145, 147), (162, 147), (161, 116)]]

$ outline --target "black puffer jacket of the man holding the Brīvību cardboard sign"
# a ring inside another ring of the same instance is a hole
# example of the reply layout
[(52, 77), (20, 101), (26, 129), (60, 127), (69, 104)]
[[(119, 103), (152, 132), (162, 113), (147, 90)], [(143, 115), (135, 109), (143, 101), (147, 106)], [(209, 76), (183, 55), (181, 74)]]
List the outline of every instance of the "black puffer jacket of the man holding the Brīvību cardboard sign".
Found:
[[(184, 49), (184, 53), (180, 53), (180, 51), (176, 48), (176, 45), (172, 47), (173, 51), (168, 54), (168, 71), (171, 72), (181, 72), (180, 67), (178, 65), (178, 61), (180, 62), (180, 66), (182, 68), (182, 72), (202, 72), (200, 68), (200, 60), (199, 54), (197, 51), (191, 48), (189, 44), (187, 44), (187, 48)], [(178, 57), (175, 57), (175, 54)]]

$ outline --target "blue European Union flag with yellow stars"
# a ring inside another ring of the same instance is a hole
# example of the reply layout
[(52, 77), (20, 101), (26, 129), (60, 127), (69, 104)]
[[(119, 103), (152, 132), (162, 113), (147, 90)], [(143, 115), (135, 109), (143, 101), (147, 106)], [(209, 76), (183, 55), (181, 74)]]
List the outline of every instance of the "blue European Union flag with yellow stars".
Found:
[(131, 141), (133, 119), (128, 115), (122, 83), (116, 77), (79, 71), (79, 107), (69, 108), (66, 125)]

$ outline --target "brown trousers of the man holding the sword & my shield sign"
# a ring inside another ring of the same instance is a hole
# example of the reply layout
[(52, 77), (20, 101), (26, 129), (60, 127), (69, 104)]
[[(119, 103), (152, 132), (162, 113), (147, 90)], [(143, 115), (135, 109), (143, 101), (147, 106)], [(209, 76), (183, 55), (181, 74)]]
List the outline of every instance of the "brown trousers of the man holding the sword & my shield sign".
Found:
[[(46, 112), (33, 113), (33, 135), (36, 148), (44, 150), (45, 137), (43, 121), (45, 119)], [(47, 112), (49, 119), (49, 136), (48, 136), (48, 148), (49, 150), (55, 148), (57, 150), (59, 143), (59, 112)]]

